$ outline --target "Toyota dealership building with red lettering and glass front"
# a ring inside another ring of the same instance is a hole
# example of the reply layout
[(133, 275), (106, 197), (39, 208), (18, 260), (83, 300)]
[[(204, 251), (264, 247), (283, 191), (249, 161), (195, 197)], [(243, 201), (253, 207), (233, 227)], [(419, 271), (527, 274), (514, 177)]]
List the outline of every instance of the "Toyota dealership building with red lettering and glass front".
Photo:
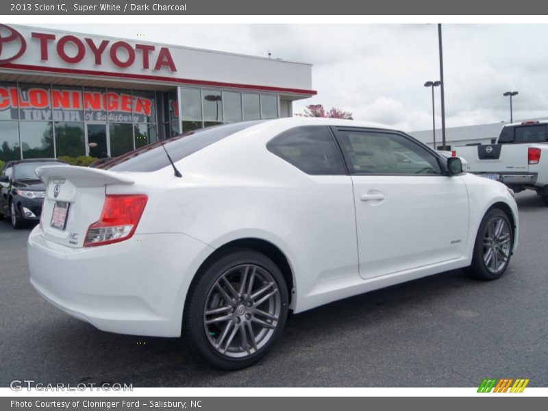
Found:
[(0, 160), (115, 157), (223, 123), (292, 116), (312, 66), (0, 25)]

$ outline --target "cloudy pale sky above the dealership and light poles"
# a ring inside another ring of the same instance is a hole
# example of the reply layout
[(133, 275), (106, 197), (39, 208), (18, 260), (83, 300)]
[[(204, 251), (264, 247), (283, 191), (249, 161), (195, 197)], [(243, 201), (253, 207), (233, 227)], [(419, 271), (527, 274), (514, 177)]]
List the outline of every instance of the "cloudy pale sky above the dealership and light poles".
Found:
[[(296, 113), (321, 103), (406, 131), (432, 127), (432, 95), (423, 84), (439, 79), (434, 24), (39, 26), (265, 57), (271, 51), (314, 64), (318, 95), (296, 102)], [(548, 116), (547, 50), (548, 25), (443, 25), (447, 127), (508, 121), (507, 90), (519, 91), (514, 119)]]

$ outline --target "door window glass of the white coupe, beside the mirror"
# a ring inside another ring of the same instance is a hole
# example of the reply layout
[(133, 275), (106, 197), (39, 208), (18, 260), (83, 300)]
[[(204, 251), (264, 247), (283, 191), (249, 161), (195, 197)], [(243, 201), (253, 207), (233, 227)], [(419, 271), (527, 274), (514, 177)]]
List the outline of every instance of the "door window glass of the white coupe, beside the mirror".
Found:
[(436, 157), (399, 134), (340, 130), (344, 149), (358, 174), (440, 174)]

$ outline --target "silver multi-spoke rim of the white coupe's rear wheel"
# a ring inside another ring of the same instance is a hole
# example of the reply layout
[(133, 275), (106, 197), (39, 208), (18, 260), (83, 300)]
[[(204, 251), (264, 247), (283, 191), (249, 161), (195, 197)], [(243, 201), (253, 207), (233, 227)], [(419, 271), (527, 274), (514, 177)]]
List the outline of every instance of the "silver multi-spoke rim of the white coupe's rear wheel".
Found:
[(281, 307), (271, 273), (242, 264), (223, 273), (212, 286), (203, 308), (203, 328), (216, 351), (245, 358), (273, 338)]

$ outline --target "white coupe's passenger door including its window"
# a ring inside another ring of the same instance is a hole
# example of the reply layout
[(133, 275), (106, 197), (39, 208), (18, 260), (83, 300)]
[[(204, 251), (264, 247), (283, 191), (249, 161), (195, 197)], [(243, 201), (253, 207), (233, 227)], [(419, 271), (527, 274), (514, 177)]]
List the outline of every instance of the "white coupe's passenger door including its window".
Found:
[(464, 253), (468, 194), (437, 155), (405, 134), (336, 129), (353, 182), (358, 260), (364, 279)]

